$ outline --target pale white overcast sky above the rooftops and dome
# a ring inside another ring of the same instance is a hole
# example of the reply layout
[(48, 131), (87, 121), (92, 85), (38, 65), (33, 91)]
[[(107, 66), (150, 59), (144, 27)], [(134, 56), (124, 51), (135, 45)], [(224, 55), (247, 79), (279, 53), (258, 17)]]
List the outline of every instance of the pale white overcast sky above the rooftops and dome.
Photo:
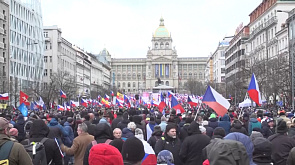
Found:
[(43, 25), (98, 54), (146, 57), (163, 16), (179, 57), (207, 57), (262, 0), (42, 0)]

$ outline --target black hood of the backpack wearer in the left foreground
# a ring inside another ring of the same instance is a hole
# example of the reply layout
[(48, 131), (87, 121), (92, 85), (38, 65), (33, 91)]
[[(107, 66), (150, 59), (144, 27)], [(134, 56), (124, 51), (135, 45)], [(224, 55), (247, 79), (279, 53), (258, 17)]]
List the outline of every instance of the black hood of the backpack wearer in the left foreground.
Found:
[(36, 119), (31, 124), (30, 137), (39, 138), (46, 137), (49, 133), (49, 128), (42, 119)]

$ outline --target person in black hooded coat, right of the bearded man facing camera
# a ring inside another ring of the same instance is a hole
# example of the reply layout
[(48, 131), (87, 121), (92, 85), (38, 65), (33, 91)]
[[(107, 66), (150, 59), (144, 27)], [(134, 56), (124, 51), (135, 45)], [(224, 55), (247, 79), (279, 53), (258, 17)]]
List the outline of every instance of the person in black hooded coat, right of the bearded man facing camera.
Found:
[(202, 165), (202, 150), (210, 143), (210, 138), (201, 133), (195, 121), (190, 124), (188, 131), (189, 136), (181, 145), (180, 158), (186, 165)]

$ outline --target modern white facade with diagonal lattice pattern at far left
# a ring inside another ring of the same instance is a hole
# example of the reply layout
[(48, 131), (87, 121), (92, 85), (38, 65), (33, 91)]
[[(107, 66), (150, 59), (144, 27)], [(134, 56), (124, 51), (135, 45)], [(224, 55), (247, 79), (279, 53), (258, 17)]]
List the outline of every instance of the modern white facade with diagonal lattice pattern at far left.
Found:
[[(39, 0), (22, 2), (11, 0), (10, 17), (10, 91), (19, 93), (41, 87), (44, 70), (44, 37), (41, 3)], [(6, 43), (6, 42), (5, 42)], [(4, 44), (8, 49), (8, 44)], [(11, 96), (14, 99), (14, 96)]]

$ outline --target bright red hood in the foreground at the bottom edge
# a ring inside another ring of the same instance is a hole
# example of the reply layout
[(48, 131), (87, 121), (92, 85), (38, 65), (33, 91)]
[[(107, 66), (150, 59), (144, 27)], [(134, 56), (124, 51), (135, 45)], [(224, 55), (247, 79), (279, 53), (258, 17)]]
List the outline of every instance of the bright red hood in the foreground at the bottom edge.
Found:
[(123, 158), (117, 148), (101, 143), (91, 148), (88, 162), (89, 165), (123, 165)]

